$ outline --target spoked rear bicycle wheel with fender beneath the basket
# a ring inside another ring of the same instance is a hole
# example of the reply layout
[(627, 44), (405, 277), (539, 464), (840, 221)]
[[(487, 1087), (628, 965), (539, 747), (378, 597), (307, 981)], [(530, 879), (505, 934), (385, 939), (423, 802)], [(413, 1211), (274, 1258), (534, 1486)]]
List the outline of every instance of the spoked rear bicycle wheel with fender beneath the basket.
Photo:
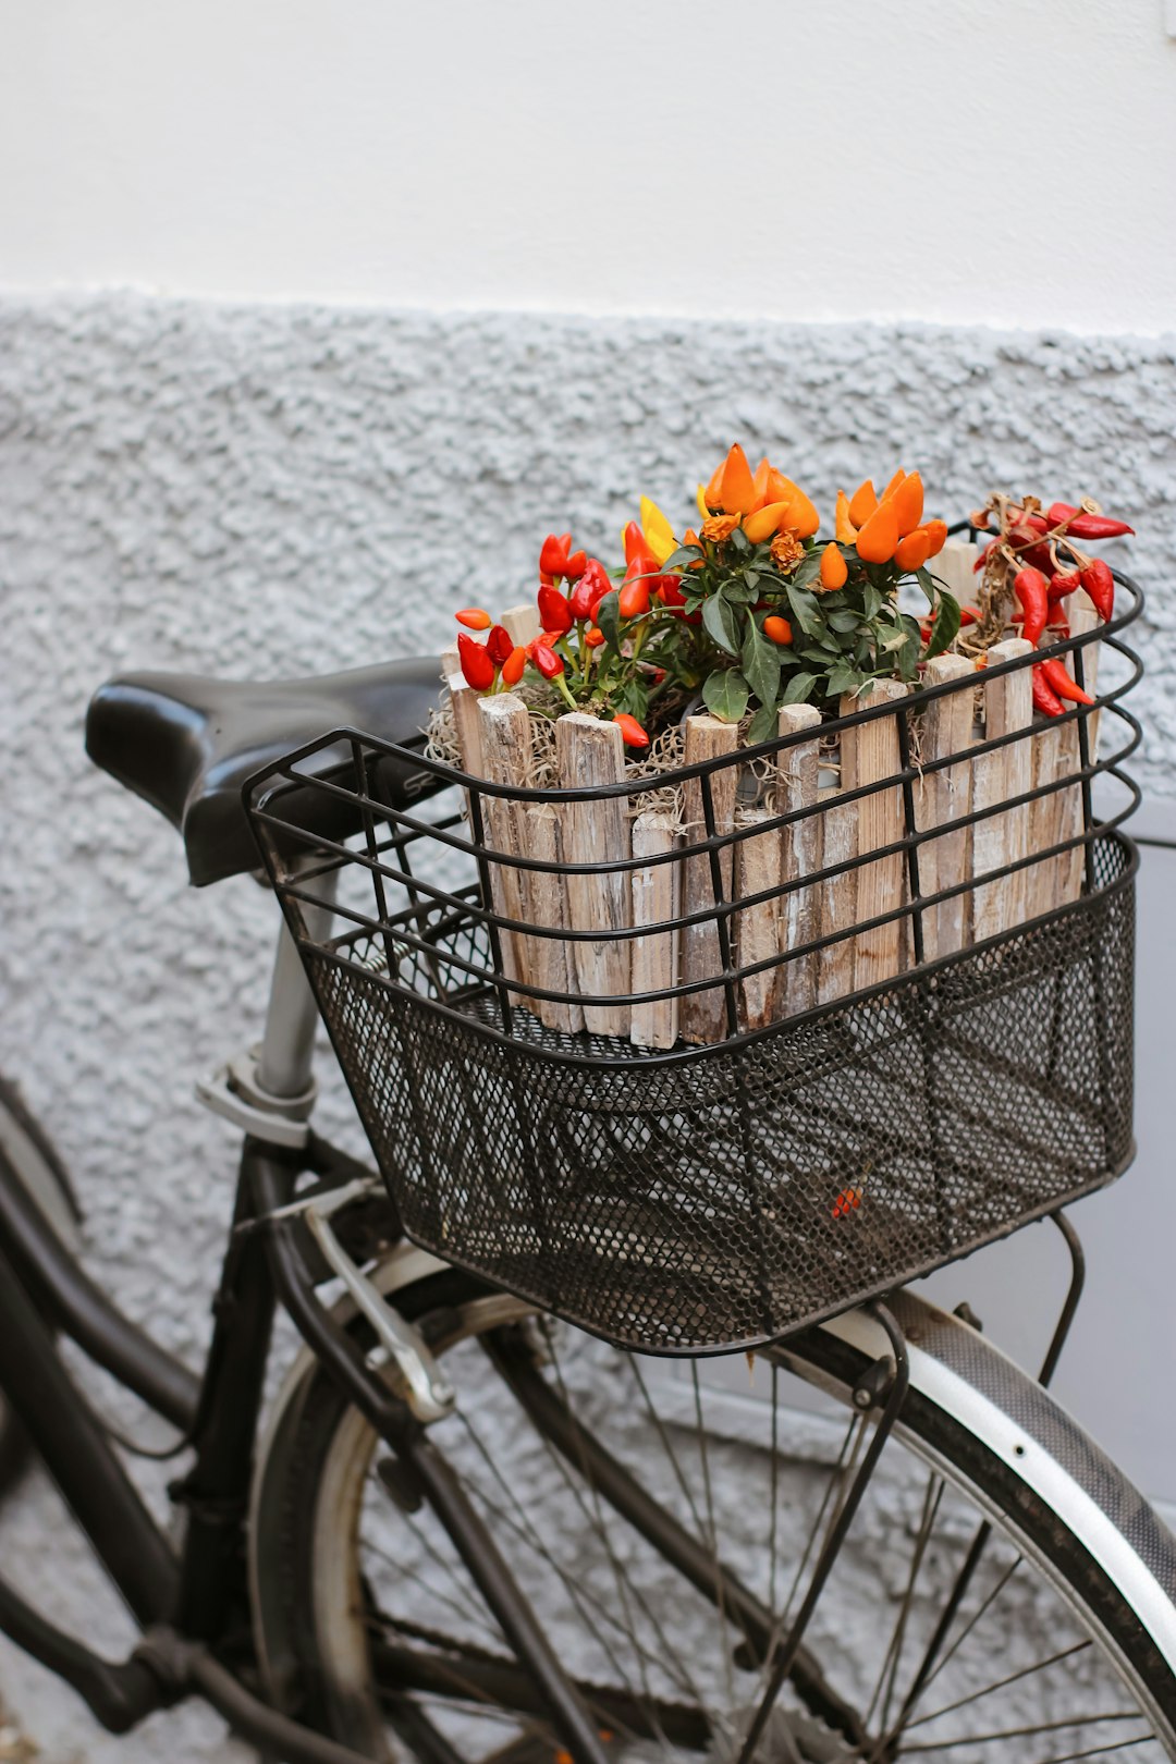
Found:
[[(460, 1274), (395, 1302), (458, 1390), (430, 1439), (610, 1753), (739, 1757), (873, 1425), (853, 1390), (885, 1337), (853, 1312), (755, 1364), (670, 1365)], [(1176, 1757), (1176, 1544), (975, 1332), (910, 1295), (897, 1309), (912, 1385), (756, 1757)], [(254, 1510), (275, 1697), (374, 1759), (550, 1764), (561, 1738), (527, 1672), (411, 1505), (303, 1365)]]

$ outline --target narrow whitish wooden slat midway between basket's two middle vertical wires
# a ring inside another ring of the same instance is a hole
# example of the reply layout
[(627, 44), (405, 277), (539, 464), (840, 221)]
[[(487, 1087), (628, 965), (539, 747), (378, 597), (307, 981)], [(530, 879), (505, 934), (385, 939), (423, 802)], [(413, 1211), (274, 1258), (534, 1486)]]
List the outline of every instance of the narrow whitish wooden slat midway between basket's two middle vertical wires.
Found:
[[(813, 704), (785, 704), (779, 711), (778, 730), (781, 736), (795, 736), (811, 729), (811, 741), (797, 741), (792, 748), (783, 748), (776, 757), (776, 806), (781, 815), (790, 815), (799, 808), (816, 810), (818, 790), (818, 737), (820, 711)], [(795, 882), (813, 875), (822, 863), (822, 815), (804, 815), (779, 829), (779, 875), (781, 882)], [(799, 887), (783, 894), (779, 901), (779, 947), (797, 949), (811, 944), (818, 937), (820, 894), (816, 887)], [(795, 1016), (797, 1011), (809, 1011), (816, 1004), (816, 951), (785, 961), (778, 968), (776, 979), (776, 1016)]]

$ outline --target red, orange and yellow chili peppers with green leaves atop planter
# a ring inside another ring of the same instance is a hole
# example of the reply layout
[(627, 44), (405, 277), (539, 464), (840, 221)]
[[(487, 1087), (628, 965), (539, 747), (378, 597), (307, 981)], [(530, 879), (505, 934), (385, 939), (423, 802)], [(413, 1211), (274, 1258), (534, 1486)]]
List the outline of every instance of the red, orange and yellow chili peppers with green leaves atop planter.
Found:
[[(696, 524), (681, 538), (649, 497), (608, 568), (548, 534), (540, 550), (540, 633), (515, 644), (481, 607), (457, 614), (460, 667), (478, 691), (527, 684), (532, 714), (591, 711), (649, 744), (691, 700), (741, 723), (748, 743), (776, 734), (785, 704), (836, 709), (875, 679), (917, 684), (936, 654), (982, 653), (1012, 624), (1030, 642), (1068, 635), (1063, 598), (1084, 587), (1111, 617), (1113, 577), (1083, 542), (1132, 529), (1095, 503), (993, 496), (971, 517), (993, 538), (980, 556), (975, 607), (934, 572), (947, 524), (924, 515), (919, 471), (882, 490), (839, 490), (832, 538), (813, 499), (767, 459), (753, 471), (733, 445), (698, 485)], [(906, 593), (910, 591), (910, 594)], [(910, 598), (926, 598), (917, 617)], [(485, 642), (471, 633), (485, 632)], [(1088, 702), (1060, 660), (1033, 669), (1035, 704)]]

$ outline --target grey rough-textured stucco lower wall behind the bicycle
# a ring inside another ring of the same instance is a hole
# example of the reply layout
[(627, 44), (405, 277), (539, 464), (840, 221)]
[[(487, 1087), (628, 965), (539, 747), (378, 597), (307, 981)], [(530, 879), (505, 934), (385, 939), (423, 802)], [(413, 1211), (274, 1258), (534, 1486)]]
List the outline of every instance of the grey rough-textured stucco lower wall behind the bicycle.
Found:
[[(197, 1353), (233, 1136), (192, 1080), (259, 1027), (270, 908), (249, 878), (187, 889), (171, 829), (88, 766), (102, 677), (441, 647), (453, 607), (520, 598), (548, 529), (615, 549), (636, 489), (686, 517), (741, 436), (822, 506), (901, 460), (949, 513), (1012, 485), (1128, 515), (1120, 556), (1151, 589), (1139, 771), (1171, 796), (1174, 407), (1157, 340), (0, 302), (0, 1065), (76, 1171), (118, 1300)], [(79, 1552), (42, 1558), (49, 1528), (33, 1485), (21, 1561), (97, 1621)], [(25, 1686), (55, 1711), (62, 1757), (90, 1746), (71, 1699), (0, 1660), (18, 1708)], [(183, 1755), (222, 1755), (201, 1734)]]

